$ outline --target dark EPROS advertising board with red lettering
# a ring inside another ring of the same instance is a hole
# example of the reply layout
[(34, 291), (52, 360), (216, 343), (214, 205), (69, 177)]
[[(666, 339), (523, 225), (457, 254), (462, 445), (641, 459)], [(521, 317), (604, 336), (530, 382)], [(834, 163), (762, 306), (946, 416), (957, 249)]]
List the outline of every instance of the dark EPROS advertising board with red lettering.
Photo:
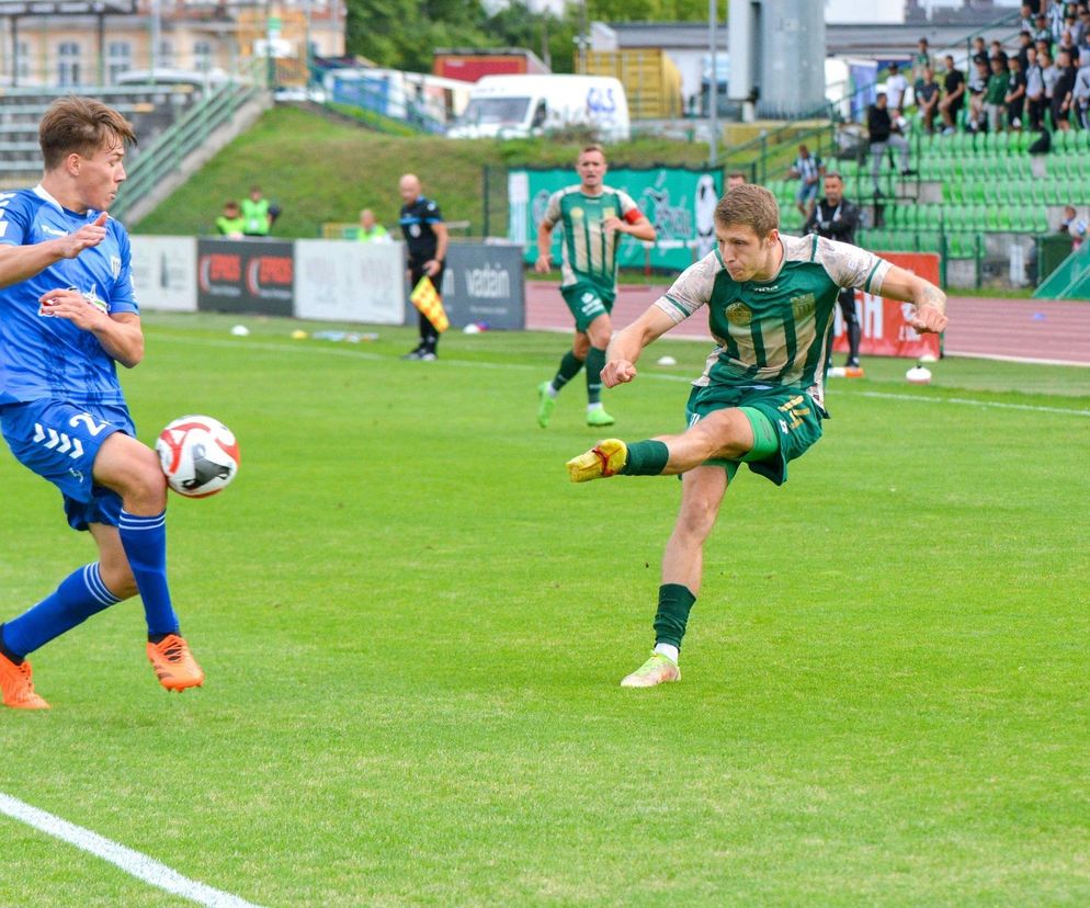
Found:
[(197, 240), (197, 307), (222, 313), (294, 315), (293, 243)]

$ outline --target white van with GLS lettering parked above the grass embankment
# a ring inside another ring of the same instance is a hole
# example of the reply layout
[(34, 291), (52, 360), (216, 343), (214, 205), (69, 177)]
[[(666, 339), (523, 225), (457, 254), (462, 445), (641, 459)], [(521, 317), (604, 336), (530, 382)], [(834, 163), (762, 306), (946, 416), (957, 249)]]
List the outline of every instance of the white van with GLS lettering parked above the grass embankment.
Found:
[(588, 126), (604, 141), (632, 133), (624, 86), (608, 76), (485, 76), (451, 138), (524, 138)]

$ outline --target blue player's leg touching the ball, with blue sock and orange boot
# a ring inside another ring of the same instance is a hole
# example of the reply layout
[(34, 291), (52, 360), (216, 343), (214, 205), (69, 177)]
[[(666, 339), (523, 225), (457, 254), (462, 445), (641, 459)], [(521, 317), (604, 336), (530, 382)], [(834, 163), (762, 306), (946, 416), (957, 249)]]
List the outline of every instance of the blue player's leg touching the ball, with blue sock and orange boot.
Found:
[(200, 686), (204, 672), (181, 636), (167, 583), (167, 484), (155, 452), (115, 433), (94, 461), (94, 478), (122, 498), (116, 529), (94, 532), (107, 590), (139, 590), (147, 655), (159, 683), (171, 691)]

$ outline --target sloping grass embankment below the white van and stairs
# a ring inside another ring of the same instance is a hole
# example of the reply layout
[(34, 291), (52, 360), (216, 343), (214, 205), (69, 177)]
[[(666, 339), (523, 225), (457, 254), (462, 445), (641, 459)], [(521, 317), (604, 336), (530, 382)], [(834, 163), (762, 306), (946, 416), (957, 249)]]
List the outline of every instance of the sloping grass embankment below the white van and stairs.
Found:
[[(138, 234), (197, 234), (214, 230), (228, 198), (241, 198), (257, 183), (281, 206), (275, 235), (315, 237), (327, 222), (354, 223), (363, 207), (386, 225), (397, 224), (398, 178), (417, 173), (447, 220), (468, 220), (469, 234), (484, 226), (484, 167), (574, 166), (580, 143), (452, 140), (442, 136), (389, 136), (333, 123), (295, 107), (275, 107), (195, 173), (148, 217)], [(611, 146), (615, 164), (699, 164), (707, 146), (640, 138)], [(574, 174), (572, 174), (574, 177)], [(506, 183), (492, 182), (506, 193)], [(504, 211), (493, 205), (492, 213)], [(492, 232), (506, 230), (502, 218)]]

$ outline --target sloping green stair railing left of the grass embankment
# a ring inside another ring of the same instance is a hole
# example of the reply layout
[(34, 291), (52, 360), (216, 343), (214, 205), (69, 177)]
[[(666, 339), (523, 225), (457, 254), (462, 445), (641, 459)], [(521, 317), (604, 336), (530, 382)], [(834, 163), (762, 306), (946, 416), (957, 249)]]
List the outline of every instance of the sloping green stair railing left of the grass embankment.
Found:
[(127, 169), (127, 179), (110, 213), (117, 218), (124, 217), (191, 152), (207, 141), (215, 129), (230, 122), (239, 107), (264, 90), (264, 60), (257, 60), (252, 69), (218, 87), (182, 114), (150, 146), (140, 150)]

